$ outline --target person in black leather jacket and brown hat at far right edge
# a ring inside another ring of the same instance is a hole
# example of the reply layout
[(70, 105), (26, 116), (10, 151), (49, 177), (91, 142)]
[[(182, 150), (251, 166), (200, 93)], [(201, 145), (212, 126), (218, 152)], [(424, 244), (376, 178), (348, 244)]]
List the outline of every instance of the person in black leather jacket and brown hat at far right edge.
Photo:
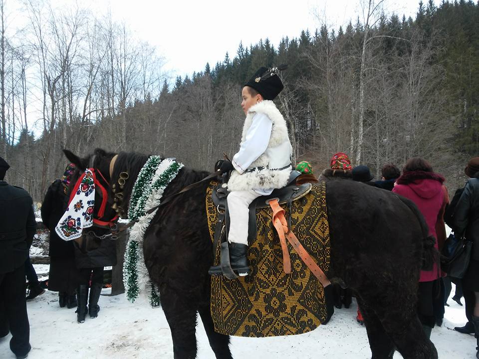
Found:
[(479, 157), (469, 161), (465, 173), (471, 179), (467, 181), (456, 205), (452, 224), (455, 235), (464, 235), (466, 240), (473, 242), (471, 260), (462, 284), (466, 315), (475, 329), (476, 357), (479, 358)]

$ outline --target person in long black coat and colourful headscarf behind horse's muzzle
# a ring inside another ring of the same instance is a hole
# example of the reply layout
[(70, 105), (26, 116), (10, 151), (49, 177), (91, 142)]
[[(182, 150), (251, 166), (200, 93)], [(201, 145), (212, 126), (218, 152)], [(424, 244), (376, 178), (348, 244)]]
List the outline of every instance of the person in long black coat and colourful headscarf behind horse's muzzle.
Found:
[(58, 292), (60, 308), (76, 308), (76, 287), (78, 270), (75, 267), (73, 242), (62, 240), (55, 232), (55, 226), (63, 215), (67, 202), (67, 190), (75, 165), (69, 164), (63, 176), (55, 179), (48, 187), (41, 204), (41, 219), (49, 229), (50, 271), (48, 290)]

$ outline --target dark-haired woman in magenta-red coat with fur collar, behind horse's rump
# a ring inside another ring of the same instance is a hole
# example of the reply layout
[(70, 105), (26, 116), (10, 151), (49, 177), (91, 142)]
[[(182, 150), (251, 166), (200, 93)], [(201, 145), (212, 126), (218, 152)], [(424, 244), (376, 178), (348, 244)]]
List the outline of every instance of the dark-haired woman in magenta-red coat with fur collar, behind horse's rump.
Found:
[[(416, 204), (428, 224), (429, 235), (436, 238), (436, 249), (439, 249), (438, 243), (442, 245), (446, 239), (443, 215), (449, 196), (443, 182), (444, 177), (434, 173), (427, 161), (415, 157), (408, 160), (403, 175), (393, 188), (393, 192), (411, 199)], [(433, 303), (440, 276), (440, 268), (435, 262), (433, 269), (421, 271), (419, 278), (418, 317), (428, 337), (431, 336), (435, 324)]]

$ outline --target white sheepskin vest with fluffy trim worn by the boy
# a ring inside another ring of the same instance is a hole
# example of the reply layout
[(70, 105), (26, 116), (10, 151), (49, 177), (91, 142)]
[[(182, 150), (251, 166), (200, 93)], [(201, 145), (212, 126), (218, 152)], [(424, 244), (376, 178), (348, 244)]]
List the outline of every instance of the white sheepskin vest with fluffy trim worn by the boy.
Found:
[[(274, 103), (263, 100), (251, 106), (244, 120), (241, 142), (245, 141), (246, 133), (252, 124), (256, 113), (263, 113), (272, 121), (271, 136), (266, 151), (254, 161), (247, 170), (255, 169), (252, 172), (239, 174), (236, 170), (232, 172), (228, 181), (228, 190), (268, 189), (281, 188), (287, 184), (291, 167), (292, 147), (289, 142), (288, 129), (283, 116)], [(263, 167), (263, 169), (258, 169)], [(287, 167), (284, 170), (276, 170)]]

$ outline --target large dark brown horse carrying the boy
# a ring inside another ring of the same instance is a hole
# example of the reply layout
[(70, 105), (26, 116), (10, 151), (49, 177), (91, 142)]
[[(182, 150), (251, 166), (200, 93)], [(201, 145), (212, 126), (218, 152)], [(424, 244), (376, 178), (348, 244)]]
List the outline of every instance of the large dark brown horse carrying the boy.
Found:
[[(68, 151), (65, 155), (79, 170), (92, 167), (100, 171), (106, 186), (127, 172), (130, 178), (123, 188), (124, 203), (128, 203), (134, 181), (148, 159), (120, 153), (110, 176), (114, 153), (97, 149), (83, 159)], [(164, 196), (208, 175), (185, 167)], [(205, 213), (207, 186), (202, 183), (161, 206), (144, 238), (145, 263), (160, 290), (175, 359), (196, 358), (197, 313), (216, 358), (232, 358), (230, 339), (215, 333), (210, 314), (212, 243)], [(108, 195), (112, 195), (111, 189)], [(392, 358), (393, 348), (406, 359), (437, 358), (416, 314), (421, 265), (426, 267), (435, 255), (434, 238), (428, 237), (428, 227), (416, 206), (394, 193), (354, 181), (328, 182), (326, 196), (331, 242), (326, 275), (355, 293), (372, 358)]]

